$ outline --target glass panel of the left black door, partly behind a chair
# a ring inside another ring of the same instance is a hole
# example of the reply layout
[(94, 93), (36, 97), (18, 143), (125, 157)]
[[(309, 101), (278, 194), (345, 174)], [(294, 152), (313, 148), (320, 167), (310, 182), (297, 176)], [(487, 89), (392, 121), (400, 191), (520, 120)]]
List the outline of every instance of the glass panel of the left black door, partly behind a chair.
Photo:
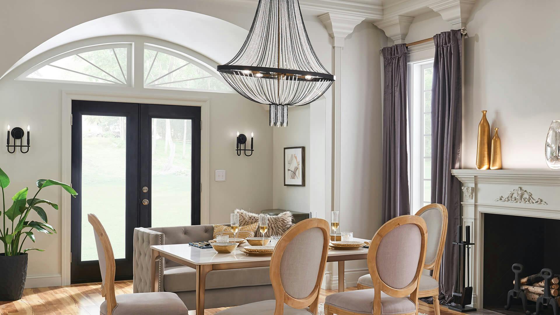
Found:
[(126, 135), (126, 117), (82, 115), (81, 261), (97, 260), (90, 213), (103, 224), (115, 258), (125, 258)]

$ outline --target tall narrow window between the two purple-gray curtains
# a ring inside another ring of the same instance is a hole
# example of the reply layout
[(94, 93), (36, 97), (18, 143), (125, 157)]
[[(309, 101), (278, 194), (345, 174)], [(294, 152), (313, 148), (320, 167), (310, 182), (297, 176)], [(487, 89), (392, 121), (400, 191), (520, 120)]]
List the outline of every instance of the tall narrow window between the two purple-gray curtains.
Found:
[(412, 209), (431, 203), (433, 59), (409, 64), (410, 187)]

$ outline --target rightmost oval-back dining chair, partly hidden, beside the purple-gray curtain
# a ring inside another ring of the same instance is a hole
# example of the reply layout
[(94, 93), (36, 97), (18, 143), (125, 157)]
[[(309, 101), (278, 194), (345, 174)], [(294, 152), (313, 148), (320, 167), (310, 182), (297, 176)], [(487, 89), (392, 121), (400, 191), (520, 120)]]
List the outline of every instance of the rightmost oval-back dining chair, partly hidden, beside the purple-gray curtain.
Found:
[[(440, 315), (440, 279), (441, 257), (444, 254), (445, 239), (447, 237), (447, 208), (439, 203), (432, 203), (422, 207), (416, 215), (426, 221), (428, 226), (428, 245), (426, 247), (426, 262), (420, 277), (418, 291), (419, 298), (433, 298), (433, 309)], [(430, 272), (431, 271), (431, 272)], [(430, 275), (431, 274), (431, 275)], [(370, 275), (358, 279), (358, 290), (372, 289), (374, 284)]]

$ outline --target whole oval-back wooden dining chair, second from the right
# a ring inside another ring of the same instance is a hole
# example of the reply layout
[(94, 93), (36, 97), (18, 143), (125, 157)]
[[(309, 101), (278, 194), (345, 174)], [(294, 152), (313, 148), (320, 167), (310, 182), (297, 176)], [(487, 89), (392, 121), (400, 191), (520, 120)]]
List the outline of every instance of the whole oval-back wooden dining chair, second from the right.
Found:
[(325, 298), (325, 315), (415, 315), (426, 258), (427, 227), (421, 217), (387, 221), (371, 240), (367, 267), (375, 289), (346, 291)]

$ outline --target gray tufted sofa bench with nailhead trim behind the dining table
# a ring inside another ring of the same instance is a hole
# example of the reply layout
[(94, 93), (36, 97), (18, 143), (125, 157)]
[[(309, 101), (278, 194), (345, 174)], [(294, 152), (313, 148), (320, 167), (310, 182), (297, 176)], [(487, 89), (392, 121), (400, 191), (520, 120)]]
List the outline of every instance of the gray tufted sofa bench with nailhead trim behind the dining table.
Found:
[[(186, 244), (213, 238), (212, 225), (134, 229), (133, 291), (150, 292), (151, 245)], [(156, 274), (158, 291), (174, 292), (189, 309), (196, 308), (197, 275), (193, 268), (162, 259)], [(205, 308), (230, 307), (274, 299), (269, 268), (215, 270), (206, 277)]]

